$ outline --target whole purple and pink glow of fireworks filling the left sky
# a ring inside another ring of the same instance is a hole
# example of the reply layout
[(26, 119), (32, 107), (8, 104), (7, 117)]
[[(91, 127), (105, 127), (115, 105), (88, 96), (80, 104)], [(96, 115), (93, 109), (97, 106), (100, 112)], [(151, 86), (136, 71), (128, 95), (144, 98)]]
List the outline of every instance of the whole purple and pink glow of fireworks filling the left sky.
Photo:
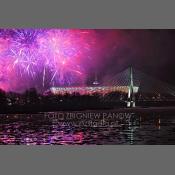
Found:
[(93, 30), (1, 30), (0, 88), (41, 90), (84, 83), (95, 38)]

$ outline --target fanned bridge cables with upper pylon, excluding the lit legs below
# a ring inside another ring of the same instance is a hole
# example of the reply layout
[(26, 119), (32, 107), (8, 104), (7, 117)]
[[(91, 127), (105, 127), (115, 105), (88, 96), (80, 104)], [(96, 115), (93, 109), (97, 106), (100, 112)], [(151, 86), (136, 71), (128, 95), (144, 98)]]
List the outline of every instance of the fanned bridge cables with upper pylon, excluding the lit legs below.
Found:
[(175, 87), (149, 76), (132, 67), (116, 74), (112, 79), (105, 82), (110, 86), (133, 86), (138, 87), (140, 92), (167, 93), (175, 96)]

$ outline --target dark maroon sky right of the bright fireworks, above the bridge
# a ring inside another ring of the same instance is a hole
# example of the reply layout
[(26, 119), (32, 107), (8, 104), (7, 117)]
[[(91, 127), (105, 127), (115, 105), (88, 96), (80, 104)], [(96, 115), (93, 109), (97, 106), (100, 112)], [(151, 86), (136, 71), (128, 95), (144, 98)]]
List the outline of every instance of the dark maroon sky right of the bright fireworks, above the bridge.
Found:
[(129, 65), (175, 85), (175, 30), (98, 30), (105, 45), (101, 73), (113, 74)]

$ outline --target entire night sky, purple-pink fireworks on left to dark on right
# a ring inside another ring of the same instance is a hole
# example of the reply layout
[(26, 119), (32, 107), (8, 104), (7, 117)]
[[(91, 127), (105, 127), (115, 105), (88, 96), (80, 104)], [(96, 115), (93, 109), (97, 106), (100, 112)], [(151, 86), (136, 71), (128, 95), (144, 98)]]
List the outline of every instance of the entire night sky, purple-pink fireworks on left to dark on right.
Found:
[(0, 88), (87, 84), (132, 65), (175, 85), (175, 30), (1, 29)]

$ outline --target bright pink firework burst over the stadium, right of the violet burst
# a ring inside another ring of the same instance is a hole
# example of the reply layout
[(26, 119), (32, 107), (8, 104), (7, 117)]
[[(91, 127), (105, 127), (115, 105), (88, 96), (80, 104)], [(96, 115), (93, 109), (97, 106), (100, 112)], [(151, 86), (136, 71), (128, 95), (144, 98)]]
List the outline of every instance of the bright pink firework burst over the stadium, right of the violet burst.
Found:
[[(85, 61), (91, 61), (94, 33), (89, 30), (52, 29), (38, 38), (39, 54), (44, 62), (43, 86), (51, 73), (50, 84), (82, 83), (86, 76)], [(88, 60), (89, 59), (89, 60)]]

